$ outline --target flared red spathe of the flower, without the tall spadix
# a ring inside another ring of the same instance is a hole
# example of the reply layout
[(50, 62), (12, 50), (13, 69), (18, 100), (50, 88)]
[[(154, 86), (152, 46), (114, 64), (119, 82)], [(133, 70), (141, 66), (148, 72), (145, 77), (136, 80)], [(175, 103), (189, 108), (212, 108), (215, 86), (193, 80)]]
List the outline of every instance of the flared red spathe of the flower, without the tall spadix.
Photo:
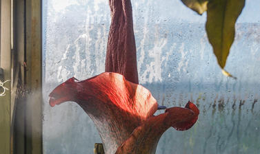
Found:
[[(157, 101), (148, 89), (121, 74), (105, 72), (87, 80), (70, 78), (50, 94), (50, 105), (74, 101), (97, 126), (106, 153), (155, 153), (159, 138), (170, 126), (186, 130), (199, 110), (188, 102), (154, 116)], [(120, 146), (120, 147), (119, 147)]]

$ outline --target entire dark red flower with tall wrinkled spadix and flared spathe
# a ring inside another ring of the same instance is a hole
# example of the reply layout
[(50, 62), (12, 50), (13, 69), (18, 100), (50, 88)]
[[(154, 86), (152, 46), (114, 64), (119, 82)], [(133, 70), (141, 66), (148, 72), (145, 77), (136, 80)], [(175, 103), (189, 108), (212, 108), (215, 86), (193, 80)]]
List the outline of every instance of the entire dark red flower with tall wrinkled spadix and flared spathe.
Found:
[(106, 154), (153, 154), (161, 135), (171, 126), (190, 129), (199, 109), (171, 107), (154, 116), (157, 101), (138, 84), (137, 57), (130, 0), (110, 0), (106, 72), (79, 81), (70, 78), (50, 93), (50, 106), (77, 102), (97, 126)]

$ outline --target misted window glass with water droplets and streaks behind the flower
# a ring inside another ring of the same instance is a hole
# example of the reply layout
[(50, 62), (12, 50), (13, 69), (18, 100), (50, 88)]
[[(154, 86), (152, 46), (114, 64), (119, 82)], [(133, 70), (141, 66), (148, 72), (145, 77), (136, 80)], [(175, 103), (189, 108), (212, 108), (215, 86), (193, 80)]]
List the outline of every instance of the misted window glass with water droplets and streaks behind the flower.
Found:
[[(181, 1), (132, 0), (141, 85), (161, 105), (193, 101), (201, 111), (188, 131), (169, 129), (158, 154), (260, 151), (260, 3), (246, 1), (221, 74), (205, 31), (206, 14)], [(108, 0), (43, 0), (43, 153), (92, 153), (97, 129), (76, 103), (51, 108), (48, 94), (72, 76), (104, 72)]]

